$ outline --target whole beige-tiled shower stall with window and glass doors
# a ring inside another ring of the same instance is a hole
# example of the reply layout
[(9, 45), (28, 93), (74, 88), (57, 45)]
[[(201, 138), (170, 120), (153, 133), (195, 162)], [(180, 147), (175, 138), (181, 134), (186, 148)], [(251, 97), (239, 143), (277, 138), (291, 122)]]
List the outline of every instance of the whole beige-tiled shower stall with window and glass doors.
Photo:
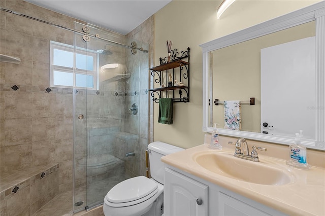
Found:
[(146, 175), (149, 44), (25, 1), (0, 12), (0, 214), (91, 209)]

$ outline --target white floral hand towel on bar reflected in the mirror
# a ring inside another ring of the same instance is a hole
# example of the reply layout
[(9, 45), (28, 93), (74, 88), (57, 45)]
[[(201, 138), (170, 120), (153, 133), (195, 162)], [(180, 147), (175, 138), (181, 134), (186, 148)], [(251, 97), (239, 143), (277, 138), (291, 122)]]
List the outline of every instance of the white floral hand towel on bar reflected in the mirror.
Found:
[(240, 101), (224, 101), (224, 128), (231, 130), (241, 130)]

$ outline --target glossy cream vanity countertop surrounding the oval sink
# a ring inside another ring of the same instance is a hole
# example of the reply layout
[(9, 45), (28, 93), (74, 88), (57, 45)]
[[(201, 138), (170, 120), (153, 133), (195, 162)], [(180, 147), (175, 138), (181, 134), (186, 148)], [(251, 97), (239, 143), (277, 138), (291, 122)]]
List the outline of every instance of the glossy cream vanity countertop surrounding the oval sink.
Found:
[[(234, 149), (235, 147), (232, 146), (232, 148), (223, 148), (222, 151), (234, 153)], [(325, 169), (323, 167), (311, 166), (309, 170), (297, 170), (287, 166), (283, 159), (268, 157), (265, 154), (259, 155), (260, 162), (252, 163), (272, 162), (285, 168), (294, 176), (294, 182), (286, 185), (260, 185), (239, 181), (201, 167), (192, 158), (206, 151), (218, 150), (200, 145), (164, 156), (161, 161), (288, 215), (325, 215)]]

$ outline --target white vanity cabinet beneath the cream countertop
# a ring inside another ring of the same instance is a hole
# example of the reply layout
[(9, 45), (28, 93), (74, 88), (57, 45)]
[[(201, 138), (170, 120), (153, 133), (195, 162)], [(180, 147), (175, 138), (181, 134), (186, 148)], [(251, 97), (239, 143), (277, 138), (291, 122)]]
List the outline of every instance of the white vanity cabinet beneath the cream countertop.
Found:
[(286, 215), (170, 165), (164, 187), (164, 216)]

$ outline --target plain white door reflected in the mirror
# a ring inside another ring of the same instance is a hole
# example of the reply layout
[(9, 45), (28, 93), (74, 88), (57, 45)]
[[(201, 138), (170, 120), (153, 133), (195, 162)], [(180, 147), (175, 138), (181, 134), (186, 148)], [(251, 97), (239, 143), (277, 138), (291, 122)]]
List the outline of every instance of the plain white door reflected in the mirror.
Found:
[[(315, 139), (315, 37), (261, 50), (261, 131)], [(301, 115), (303, 114), (303, 115)], [(272, 127), (264, 127), (268, 122)], [(274, 125), (274, 123), (276, 125)]]

